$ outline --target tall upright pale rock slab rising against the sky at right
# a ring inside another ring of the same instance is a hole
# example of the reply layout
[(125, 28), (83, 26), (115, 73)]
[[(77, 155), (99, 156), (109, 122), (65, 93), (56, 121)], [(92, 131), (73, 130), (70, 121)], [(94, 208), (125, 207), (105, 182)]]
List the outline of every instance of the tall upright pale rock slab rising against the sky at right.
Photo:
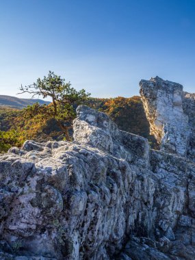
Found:
[(151, 134), (161, 151), (194, 160), (194, 94), (183, 92), (179, 83), (159, 77), (140, 81), (140, 94)]

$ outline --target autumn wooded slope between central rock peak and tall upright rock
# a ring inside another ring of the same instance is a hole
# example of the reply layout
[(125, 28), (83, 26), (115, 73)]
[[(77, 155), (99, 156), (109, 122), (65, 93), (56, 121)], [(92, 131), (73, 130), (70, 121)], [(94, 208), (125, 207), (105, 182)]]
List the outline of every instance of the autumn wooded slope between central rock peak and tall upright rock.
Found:
[(149, 123), (140, 96), (89, 99), (88, 102), (90, 107), (108, 114), (116, 122), (119, 129), (141, 135), (148, 139), (153, 148), (158, 148), (155, 138), (150, 135)]

